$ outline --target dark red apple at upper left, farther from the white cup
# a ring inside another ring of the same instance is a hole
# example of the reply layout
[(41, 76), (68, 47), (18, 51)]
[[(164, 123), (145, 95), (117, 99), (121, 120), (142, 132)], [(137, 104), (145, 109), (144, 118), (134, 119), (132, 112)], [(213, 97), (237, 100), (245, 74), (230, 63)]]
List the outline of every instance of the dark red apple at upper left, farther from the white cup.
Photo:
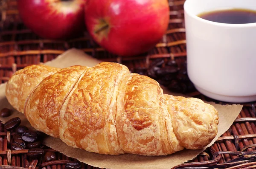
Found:
[(68, 39), (84, 30), (85, 0), (18, 0), (23, 23), (47, 39)]

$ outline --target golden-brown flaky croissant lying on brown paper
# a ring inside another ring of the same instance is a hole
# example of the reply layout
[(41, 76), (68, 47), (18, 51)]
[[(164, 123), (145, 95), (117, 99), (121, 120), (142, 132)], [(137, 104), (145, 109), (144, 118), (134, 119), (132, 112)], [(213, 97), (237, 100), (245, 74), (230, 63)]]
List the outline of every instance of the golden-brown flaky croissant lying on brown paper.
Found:
[(217, 134), (218, 111), (196, 98), (163, 94), (125, 65), (32, 65), (6, 85), (6, 98), (32, 127), (99, 154), (169, 155), (201, 149)]

